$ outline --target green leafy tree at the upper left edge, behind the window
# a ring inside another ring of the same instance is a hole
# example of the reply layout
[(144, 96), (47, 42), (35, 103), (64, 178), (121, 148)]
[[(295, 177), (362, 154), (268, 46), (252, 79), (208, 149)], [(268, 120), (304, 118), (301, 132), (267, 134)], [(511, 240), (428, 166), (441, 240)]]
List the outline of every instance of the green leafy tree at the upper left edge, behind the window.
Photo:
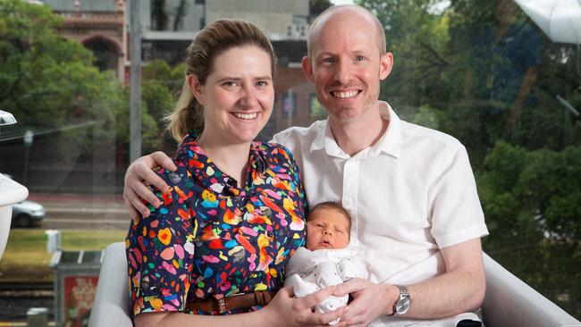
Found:
[(83, 153), (114, 138), (118, 80), (92, 65), (79, 42), (61, 38), (46, 5), (0, 1), (0, 107), (27, 130), (62, 130), (55, 146)]

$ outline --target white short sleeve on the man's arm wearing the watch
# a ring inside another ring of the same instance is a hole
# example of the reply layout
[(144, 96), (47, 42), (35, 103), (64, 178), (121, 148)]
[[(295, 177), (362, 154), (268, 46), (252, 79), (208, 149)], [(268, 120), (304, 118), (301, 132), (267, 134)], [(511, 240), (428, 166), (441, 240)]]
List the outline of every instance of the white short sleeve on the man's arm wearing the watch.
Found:
[(488, 235), (466, 148), (460, 146), (429, 192), (432, 236), (450, 247)]

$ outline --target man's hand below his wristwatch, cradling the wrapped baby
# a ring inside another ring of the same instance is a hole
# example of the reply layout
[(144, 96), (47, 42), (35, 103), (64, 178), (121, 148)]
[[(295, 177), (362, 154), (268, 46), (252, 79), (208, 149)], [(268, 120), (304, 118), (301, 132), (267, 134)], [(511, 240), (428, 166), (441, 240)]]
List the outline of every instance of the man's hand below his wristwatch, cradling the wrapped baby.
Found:
[(354, 278), (337, 285), (337, 296), (351, 294), (353, 301), (341, 322), (349, 326), (368, 326), (381, 314), (392, 314), (393, 303), (400, 297), (400, 290), (391, 284), (375, 284)]

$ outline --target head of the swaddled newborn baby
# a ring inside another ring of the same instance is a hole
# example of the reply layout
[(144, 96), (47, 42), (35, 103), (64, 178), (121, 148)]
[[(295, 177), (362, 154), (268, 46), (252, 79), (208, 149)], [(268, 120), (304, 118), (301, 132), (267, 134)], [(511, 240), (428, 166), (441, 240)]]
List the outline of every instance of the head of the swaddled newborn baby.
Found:
[(343, 248), (349, 244), (351, 217), (335, 202), (315, 205), (307, 216), (307, 248)]

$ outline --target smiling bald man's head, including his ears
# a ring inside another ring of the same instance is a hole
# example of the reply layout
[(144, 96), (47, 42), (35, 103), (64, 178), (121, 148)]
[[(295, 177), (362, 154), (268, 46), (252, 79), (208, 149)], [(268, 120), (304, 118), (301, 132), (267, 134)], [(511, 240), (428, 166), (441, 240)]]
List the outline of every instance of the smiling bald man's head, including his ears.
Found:
[(380, 55), (373, 21), (356, 12), (332, 13), (317, 24), (303, 71), (316, 96), (338, 122), (352, 122), (375, 106), (392, 54)]

